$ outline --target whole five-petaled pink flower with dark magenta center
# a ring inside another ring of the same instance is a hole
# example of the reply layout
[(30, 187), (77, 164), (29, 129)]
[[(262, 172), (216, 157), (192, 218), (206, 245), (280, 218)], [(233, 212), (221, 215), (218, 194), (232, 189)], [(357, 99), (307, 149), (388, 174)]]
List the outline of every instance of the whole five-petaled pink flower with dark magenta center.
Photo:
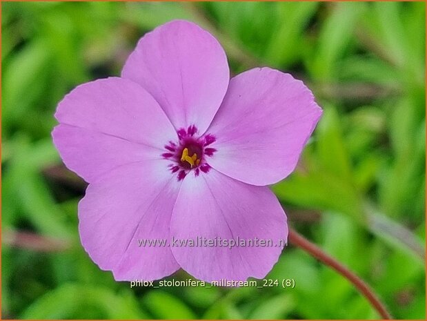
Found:
[[(52, 132), (88, 183), (81, 243), (115, 280), (264, 278), (287, 240), (267, 187), (288, 176), (321, 108), (304, 84), (270, 68), (229, 79), (218, 41), (188, 21), (139, 40), (121, 77), (77, 86)], [(277, 246), (139, 246), (138, 240), (272, 240)]]

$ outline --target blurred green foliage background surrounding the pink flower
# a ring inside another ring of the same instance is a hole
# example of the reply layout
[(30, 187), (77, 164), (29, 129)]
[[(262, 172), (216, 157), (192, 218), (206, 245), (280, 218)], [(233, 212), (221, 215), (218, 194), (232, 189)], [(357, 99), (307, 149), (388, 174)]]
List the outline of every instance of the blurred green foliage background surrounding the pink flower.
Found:
[[(295, 289), (130, 289), (83, 251), (84, 186), (52, 146), (55, 106), (77, 84), (119, 75), (137, 39), (171, 19), (213, 32), (233, 74), (271, 66), (312, 88), (324, 117), (273, 190), (290, 224), (361, 275), (395, 318), (426, 318), (425, 3), (1, 7), (3, 318), (378, 318), (347, 280), (292, 246), (268, 278), (293, 278)], [(68, 247), (27, 249), (14, 242), (23, 231)]]

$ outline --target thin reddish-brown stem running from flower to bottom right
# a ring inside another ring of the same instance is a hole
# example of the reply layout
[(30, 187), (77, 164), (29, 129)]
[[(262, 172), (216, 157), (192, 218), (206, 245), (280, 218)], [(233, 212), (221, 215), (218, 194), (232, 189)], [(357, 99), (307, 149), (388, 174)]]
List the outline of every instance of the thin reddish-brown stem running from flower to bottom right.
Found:
[(356, 286), (356, 288), (361, 292), (361, 294), (364, 295), (364, 297), (370, 302), (373, 308), (377, 310), (379, 315), (381, 315), (381, 318), (388, 320), (391, 319), (390, 313), (388, 313), (386, 307), (379, 300), (373, 289), (370, 289), (370, 286), (368, 286), (368, 284), (366, 284), (363, 280), (361, 280), (361, 278), (355, 275), (355, 273), (352, 273), (350, 270), (348, 270), (346, 266), (339, 263), (333, 257), (330, 257), (318, 246), (312, 244), (312, 242), (307, 240), (304, 236), (302, 236), (292, 228), (289, 229), (289, 242), (310, 253), (310, 255), (317, 258), (317, 260), (330, 266), (339, 274), (343, 275), (344, 278), (349, 280), (354, 286)]

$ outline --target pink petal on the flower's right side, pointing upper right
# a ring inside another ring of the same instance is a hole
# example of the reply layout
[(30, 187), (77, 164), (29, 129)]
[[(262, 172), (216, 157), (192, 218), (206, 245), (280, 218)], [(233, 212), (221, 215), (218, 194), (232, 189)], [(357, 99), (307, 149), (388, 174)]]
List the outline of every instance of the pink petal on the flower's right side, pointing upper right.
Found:
[(230, 81), (209, 133), (217, 149), (209, 164), (241, 182), (274, 184), (297, 165), (322, 110), (302, 81), (255, 68)]

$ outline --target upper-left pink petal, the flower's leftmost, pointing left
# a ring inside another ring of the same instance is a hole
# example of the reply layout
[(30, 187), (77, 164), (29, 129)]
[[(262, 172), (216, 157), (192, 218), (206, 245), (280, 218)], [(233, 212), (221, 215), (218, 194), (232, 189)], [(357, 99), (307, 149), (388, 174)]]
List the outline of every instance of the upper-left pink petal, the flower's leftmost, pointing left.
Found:
[(52, 132), (63, 162), (88, 182), (121, 164), (161, 158), (177, 137), (155, 99), (138, 84), (108, 78), (78, 86), (59, 103)]

